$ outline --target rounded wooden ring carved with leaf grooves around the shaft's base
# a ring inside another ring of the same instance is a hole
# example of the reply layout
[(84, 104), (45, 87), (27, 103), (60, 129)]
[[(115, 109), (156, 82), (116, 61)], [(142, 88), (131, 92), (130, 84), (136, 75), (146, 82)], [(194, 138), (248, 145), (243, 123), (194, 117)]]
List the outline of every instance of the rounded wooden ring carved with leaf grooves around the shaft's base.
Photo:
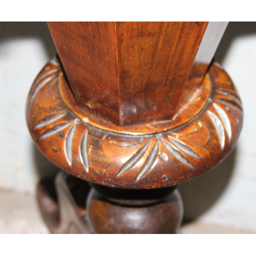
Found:
[(118, 126), (81, 110), (56, 58), (27, 101), (29, 131), (42, 153), (77, 177), (123, 188), (170, 186), (205, 173), (231, 152), (242, 118), (236, 89), (216, 61), (170, 121)]

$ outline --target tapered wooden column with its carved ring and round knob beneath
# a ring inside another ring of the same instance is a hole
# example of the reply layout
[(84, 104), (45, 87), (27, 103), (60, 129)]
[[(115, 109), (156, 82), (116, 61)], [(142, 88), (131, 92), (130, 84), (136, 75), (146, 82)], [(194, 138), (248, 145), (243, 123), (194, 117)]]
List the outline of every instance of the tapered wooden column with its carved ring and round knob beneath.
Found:
[[(59, 57), (28, 97), (35, 143), (92, 182), (86, 218), (93, 232), (177, 232), (182, 206), (174, 186), (222, 161), (242, 127), (239, 96), (212, 61), (227, 23), (48, 25)], [(44, 189), (39, 195), (48, 197)], [(167, 217), (150, 226), (159, 211)]]

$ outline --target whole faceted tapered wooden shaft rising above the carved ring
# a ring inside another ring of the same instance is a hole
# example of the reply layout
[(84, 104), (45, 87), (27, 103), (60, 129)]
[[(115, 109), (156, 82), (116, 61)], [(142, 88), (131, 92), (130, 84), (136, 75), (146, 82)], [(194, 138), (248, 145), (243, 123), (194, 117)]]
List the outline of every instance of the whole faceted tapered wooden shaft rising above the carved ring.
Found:
[(79, 108), (121, 126), (172, 119), (224, 32), (208, 22), (48, 24)]

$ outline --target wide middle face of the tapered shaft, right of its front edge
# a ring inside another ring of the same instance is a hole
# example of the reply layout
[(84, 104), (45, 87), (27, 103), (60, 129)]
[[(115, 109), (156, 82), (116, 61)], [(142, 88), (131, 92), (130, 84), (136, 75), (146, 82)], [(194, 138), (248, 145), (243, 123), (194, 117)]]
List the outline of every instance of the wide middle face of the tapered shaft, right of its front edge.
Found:
[(118, 23), (121, 125), (172, 119), (207, 24)]

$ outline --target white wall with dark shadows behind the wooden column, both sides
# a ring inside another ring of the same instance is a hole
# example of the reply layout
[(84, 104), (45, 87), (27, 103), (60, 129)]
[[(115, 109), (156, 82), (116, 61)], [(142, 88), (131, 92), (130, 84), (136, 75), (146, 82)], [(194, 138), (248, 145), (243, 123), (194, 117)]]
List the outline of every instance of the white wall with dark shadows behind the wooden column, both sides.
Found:
[[(35, 193), (57, 168), (34, 146), (25, 103), (56, 53), (46, 23), (0, 23), (0, 189)], [(211, 172), (180, 186), (185, 219), (256, 232), (256, 23), (229, 23), (216, 52), (241, 95), (245, 117), (236, 149)]]

